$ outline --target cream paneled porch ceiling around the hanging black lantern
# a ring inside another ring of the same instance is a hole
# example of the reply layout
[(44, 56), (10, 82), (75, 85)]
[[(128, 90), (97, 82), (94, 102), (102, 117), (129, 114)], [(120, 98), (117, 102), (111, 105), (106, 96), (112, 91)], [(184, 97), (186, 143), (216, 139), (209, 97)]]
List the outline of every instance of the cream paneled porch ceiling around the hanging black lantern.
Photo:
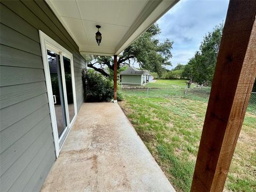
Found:
[[(46, 0), (84, 57), (121, 53), (178, 1)], [(100, 46), (95, 41), (96, 25), (101, 26)]]

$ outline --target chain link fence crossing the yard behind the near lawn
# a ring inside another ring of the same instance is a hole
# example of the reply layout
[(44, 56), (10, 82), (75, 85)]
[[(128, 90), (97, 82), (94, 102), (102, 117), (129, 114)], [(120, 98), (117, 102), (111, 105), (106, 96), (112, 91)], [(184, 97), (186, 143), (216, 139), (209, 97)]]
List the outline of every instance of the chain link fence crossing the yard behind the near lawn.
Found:
[[(146, 85), (121, 83), (121, 92), (145, 98), (188, 98), (208, 102), (211, 87), (148, 83)], [(256, 92), (252, 92), (247, 111), (256, 114)]]

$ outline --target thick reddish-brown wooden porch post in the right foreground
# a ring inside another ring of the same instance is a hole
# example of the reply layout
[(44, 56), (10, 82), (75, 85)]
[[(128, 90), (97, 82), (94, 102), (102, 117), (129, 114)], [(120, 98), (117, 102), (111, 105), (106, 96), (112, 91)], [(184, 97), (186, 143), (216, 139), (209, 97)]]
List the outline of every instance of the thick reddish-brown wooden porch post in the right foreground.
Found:
[(256, 1), (229, 2), (191, 191), (222, 191), (256, 76)]

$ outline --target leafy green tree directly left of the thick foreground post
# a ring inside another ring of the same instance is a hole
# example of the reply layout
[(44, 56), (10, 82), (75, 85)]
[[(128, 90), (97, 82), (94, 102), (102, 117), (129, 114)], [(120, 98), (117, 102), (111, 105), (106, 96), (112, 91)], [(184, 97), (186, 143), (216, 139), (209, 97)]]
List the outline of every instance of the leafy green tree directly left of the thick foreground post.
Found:
[(199, 84), (207, 85), (212, 82), (222, 30), (223, 23), (220, 23), (213, 31), (204, 36), (199, 51), (195, 53), (195, 56), (191, 58), (185, 66), (183, 76), (188, 79), (193, 79), (194, 82)]

